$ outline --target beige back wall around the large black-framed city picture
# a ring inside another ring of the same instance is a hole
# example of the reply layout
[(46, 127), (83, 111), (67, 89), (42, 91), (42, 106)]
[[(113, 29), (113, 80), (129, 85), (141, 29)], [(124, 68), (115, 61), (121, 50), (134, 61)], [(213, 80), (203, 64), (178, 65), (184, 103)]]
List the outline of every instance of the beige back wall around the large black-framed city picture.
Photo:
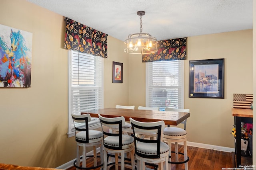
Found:
[[(225, 59), (224, 99), (188, 98), (188, 62)], [(129, 104), (145, 105), (145, 63), (129, 56)], [(188, 37), (184, 62), (184, 108), (189, 108), (188, 141), (234, 147), (230, 131), (234, 93), (252, 93), (252, 30)]]

